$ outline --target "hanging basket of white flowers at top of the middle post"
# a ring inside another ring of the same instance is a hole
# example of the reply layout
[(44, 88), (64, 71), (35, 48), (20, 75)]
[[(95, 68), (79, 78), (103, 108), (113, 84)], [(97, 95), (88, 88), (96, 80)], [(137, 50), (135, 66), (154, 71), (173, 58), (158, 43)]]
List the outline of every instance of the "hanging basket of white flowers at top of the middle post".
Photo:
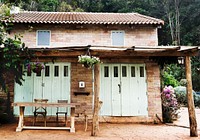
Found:
[(95, 57), (95, 56), (81, 55), (81, 56), (78, 56), (78, 62), (83, 64), (83, 66), (86, 68), (91, 68), (95, 64), (100, 63), (101, 61), (98, 57)]

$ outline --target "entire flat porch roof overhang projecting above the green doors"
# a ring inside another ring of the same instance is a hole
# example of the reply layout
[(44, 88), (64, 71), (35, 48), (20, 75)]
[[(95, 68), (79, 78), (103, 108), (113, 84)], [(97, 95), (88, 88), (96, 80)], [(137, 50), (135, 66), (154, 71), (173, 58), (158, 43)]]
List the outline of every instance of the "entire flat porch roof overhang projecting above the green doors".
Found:
[(68, 46), (56, 48), (29, 48), (39, 56), (73, 57), (84, 55), (90, 51), (91, 55), (100, 57), (150, 57), (150, 56), (197, 56), (198, 46)]

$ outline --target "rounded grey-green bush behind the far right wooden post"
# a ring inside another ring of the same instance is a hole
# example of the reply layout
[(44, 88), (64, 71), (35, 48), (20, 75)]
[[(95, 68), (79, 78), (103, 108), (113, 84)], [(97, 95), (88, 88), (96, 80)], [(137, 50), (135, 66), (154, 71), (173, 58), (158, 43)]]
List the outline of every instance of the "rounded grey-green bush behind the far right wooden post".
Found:
[[(184, 86), (178, 86), (174, 88), (177, 101), (179, 104), (187, 106), (187, 93), (186, 93), (186, 87)], [(193, 98), (194, 98), (194, 105), (197, 107), (200, 107), (200, 95), (196, 94), (195, 91), (193, 92)]]

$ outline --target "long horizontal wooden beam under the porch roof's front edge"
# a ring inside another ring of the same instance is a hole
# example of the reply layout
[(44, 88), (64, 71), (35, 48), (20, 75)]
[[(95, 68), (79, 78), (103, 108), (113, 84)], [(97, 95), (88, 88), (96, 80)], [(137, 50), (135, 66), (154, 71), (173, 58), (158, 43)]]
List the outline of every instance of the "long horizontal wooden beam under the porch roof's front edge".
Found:
[[(105, 57), (135, 57), (135, 56), (196, 56), (198, 55), (197, 48), (191, 50), (176, 50), (177, 48), (171, 49), (128, 49), (128, 50), (90, 50), (91, 55)], [(37, 50), (33, 52), (36, 57), (48, 58), (48, 57), (63, 57), (63, 58), (75, 58), (79, 55), (86, 53), (85, 49), (82, 50)]]

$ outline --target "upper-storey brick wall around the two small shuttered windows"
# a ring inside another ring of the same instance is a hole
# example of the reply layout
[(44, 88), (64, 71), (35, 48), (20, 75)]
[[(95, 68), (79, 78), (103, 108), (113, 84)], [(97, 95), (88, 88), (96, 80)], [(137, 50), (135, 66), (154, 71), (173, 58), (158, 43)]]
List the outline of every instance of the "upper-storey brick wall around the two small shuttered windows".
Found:
[[(32, 27), (32, 28), (30, 28)], [(49, 47), (103, 45), (111, 46), (111, 31), (125, 31), (125, 46), (158, 45), (157, 28), (153, 26), (94, 26), (94, 25), (16, 25), (12, 34), (23, 36), (26, 46), (36, 48), (36, 31), (50, 30), (51, 45)]]

